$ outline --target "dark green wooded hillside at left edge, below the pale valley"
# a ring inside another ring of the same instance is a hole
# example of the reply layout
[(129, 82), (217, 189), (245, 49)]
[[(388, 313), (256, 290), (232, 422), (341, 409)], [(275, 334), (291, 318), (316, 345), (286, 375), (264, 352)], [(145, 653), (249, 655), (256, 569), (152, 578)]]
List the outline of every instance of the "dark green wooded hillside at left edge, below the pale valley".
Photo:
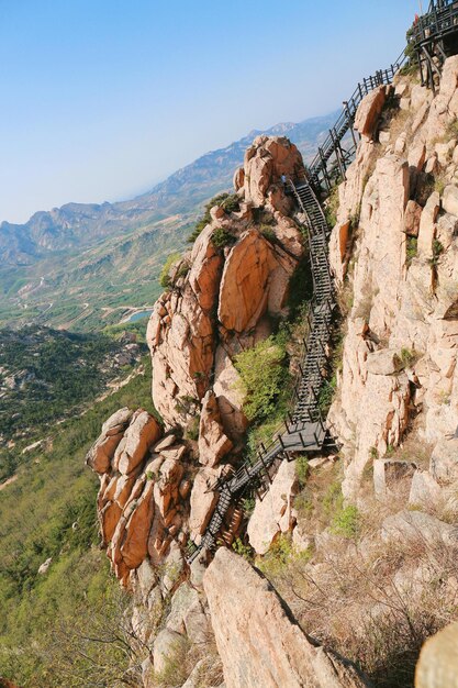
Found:
[(0, 481), (141, 365), (134, 333), (71, 334), (32, 325), (0, 330)]

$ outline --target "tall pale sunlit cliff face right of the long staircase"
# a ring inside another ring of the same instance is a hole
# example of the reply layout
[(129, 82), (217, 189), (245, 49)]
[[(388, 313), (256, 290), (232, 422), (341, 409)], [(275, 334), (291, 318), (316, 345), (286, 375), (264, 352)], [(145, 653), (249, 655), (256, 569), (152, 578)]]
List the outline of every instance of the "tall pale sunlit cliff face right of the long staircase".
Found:
[(458, 479), (457, 79), (457, 57), (436, 97), (398, 76), (400, 110), (388, 103), (377, 133), (369, 122), (338, 190), (332, 263), (349, 313), (329, 419), (350, 498), (409, 436), (431, 445), (435, 493)]

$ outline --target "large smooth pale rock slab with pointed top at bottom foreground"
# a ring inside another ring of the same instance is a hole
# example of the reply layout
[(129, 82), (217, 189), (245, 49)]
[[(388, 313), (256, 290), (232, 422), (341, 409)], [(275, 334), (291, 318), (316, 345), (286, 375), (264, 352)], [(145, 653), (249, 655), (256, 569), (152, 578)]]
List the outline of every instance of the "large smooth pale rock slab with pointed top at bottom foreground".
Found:
[(220, 548), (205, 572), (217, 652), (227, 688), (362, 688), (356, 668), (316, 646), (268, 580)]

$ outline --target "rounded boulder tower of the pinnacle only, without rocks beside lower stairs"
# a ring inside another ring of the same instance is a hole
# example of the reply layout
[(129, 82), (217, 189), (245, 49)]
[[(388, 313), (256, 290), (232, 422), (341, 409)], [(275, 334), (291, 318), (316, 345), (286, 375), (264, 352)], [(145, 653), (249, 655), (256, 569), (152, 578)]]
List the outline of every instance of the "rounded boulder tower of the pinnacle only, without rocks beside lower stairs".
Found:
[[(289, 217), (293, 204), (280, 177), (295, 177), (301, 171), (302, 157), (287, 138), (256, 138), (247, 151), (244, 169), (234, 178), (239, 212), (227, 214), (223, 207), (211, 210), (211, 222), (187, 258), (189, 274), (174, 278), (171, 289), (155, 304), (147, 331), (153, 399), (168, 426), (191, 422), (213, 387), (225, 433), (235, 442), (242, 436), (246, 419), (236, 395), (223, 389), (225, 373), (230, 370), (234, 377), (230, 366), (241, 349), (241, 337), (245, 337), (245, 347), (252, 346), (270, 334), (261, 322), (264, 315), (284, 313), (289, 279), (303, 247), (298, 226)], [(275, 242), (259, 232), (266, 224), (254, 221), (253, 206), (264, 207)], [(213, 233), (221, 231), (232, 237), (224, 248), (212, 242)], [(216, 368), (224, 357), (228, 360), (211, 385), (216, 333), (224, 343)]]

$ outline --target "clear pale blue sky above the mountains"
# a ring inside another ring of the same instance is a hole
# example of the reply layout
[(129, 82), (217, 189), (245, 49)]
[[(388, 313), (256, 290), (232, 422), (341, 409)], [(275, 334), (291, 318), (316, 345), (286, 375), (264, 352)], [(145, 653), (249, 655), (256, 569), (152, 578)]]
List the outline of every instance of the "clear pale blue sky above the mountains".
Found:
[(0, 0), (0, 221), (130, 198), (252, 129), (334, 110), (395, 59), (416, 11), (417, 0)]

